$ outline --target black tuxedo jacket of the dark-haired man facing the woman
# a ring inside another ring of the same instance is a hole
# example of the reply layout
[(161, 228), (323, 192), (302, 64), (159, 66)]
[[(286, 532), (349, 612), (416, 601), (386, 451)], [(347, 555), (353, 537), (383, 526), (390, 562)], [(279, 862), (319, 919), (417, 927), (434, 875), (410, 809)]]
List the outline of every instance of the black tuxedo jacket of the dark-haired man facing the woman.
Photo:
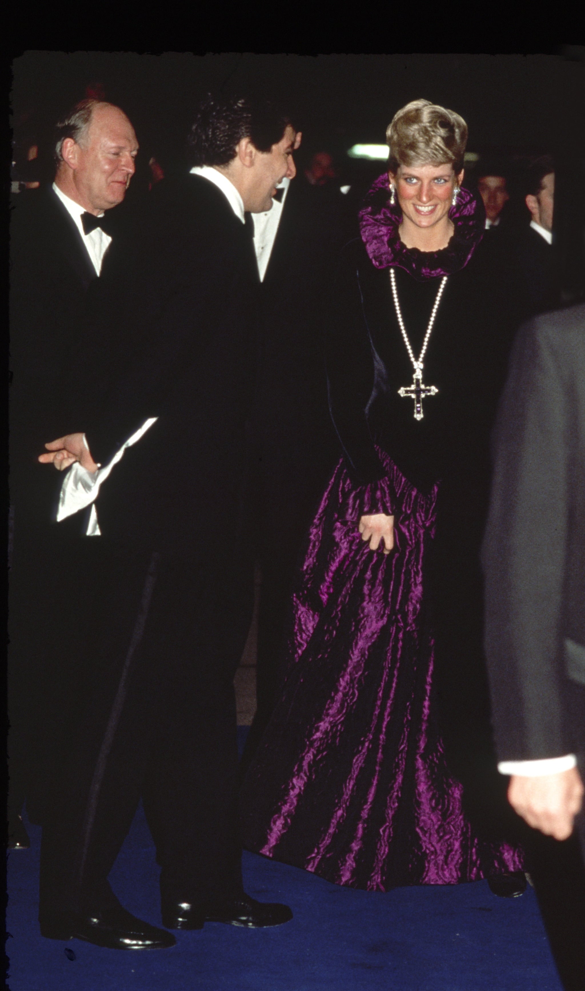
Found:
[(191, 556), (244, 512), (259, 284), (251, 237), (221, 190), (189, 174), (156, 185), (109, 256), (70, 430), (84, 430), (106, 464), (158, 417), (103, 485), (100, 528)]

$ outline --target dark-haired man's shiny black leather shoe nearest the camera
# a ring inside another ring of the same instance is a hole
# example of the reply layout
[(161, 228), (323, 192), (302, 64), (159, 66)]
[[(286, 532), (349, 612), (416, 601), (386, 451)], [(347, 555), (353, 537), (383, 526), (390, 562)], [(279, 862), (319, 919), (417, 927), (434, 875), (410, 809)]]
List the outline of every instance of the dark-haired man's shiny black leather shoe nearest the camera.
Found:
[(84, 939), (106, 949), (166, 949), (175, 937), (156, 929), (127, 912), (122, 906), (98, 912), (43, 912), (41, 935), (49, 939)]

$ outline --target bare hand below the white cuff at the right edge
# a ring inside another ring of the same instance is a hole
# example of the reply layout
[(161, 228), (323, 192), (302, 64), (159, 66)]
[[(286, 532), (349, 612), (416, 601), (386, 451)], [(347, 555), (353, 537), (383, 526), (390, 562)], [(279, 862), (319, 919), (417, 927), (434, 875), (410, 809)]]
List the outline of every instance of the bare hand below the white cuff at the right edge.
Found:
[(529, 826), (555, 839), (566, 839), (583, 802), (583, 782), (576, 767), (559, 774), (529, 778), (513, 774), (508, 801)]

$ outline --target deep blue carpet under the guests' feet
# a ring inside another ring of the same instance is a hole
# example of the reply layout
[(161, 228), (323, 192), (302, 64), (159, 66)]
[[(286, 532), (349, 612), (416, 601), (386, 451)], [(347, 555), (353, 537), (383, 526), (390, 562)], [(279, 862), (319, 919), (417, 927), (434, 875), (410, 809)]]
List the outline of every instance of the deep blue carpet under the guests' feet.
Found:
[[(244, 854), (244, 883), (283, 901), (273, 930), (207, 924), (169, 950), (124, 952), (44, 939), (37, 923), (41, 829), (10, 854), (11, 991), (561, 991), (532, 889), (495, 898), (485, 881), (352, 891)], [(110, 880), (131, 912), (159, 925), (157, 868), (142, 809)]]

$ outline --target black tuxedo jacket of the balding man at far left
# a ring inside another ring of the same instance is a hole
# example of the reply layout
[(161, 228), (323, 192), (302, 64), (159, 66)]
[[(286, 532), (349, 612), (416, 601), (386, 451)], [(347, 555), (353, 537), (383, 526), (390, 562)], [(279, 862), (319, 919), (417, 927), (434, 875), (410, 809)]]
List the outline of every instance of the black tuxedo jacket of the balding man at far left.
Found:
[(83, 311), (98, 279), (50, 187), (19, 194), (10, 233), (11, 497), (46, 524), (60, 482), (37, 457), (67, 427)]

